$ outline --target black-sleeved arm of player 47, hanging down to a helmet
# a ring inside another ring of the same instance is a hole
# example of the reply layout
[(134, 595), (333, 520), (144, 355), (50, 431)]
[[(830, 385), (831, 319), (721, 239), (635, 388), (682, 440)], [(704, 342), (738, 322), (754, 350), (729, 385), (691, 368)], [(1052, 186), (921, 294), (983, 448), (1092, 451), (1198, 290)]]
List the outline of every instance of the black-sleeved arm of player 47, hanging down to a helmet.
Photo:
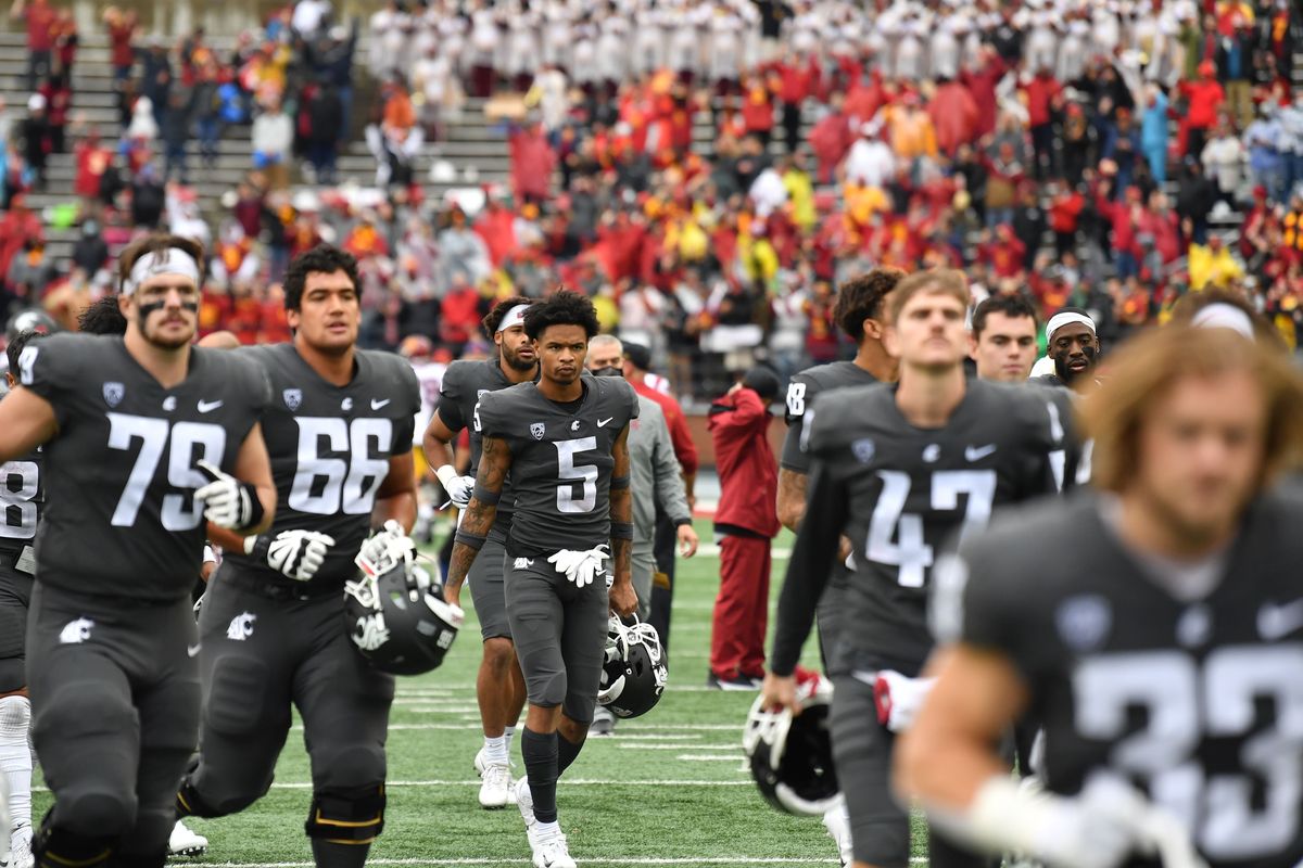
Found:
[(787, 562), (787, 575), (778, 596), (778, 625), (762, 694), (771, 705), (786, 705), (794, 713), (796, 682), (792, 671), (801, 645), (814, 625), (814, 609), (833, 571), (842, 528), (847, 519), (846, 485), (831, 462), (816, 461), (809, 476), (809, 506), (796, 534), (796, 545)]

